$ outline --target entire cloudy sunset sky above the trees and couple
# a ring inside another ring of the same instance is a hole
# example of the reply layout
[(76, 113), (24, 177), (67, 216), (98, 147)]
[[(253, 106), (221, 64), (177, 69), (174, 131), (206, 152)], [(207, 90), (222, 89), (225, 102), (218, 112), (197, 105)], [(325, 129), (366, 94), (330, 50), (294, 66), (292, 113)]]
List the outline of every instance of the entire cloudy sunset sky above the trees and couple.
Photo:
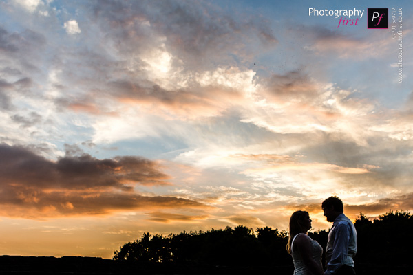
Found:
[(144, 232), (287, 230), (295, 210), (328, 230), (331, 195), (353, 221), (412, 211), (411, 14), (0, 0), (0, 254), (112, 259)]

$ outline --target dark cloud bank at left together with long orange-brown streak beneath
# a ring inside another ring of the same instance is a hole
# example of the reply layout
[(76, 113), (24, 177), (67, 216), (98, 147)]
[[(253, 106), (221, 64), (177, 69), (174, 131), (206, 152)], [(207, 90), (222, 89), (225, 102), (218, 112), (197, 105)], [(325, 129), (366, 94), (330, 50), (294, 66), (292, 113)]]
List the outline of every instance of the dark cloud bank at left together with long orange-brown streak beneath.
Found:
[(109, 214), (119, 210), (203, 207), (176, 197), (140, 195), (136, 184), (162, 186), (169, 177), (159, 164), (140, 157), (96, 159), (69, 155), (52, 162), (20, 146), (0, 146), (1, 214), (10, 217), (54, 217)]

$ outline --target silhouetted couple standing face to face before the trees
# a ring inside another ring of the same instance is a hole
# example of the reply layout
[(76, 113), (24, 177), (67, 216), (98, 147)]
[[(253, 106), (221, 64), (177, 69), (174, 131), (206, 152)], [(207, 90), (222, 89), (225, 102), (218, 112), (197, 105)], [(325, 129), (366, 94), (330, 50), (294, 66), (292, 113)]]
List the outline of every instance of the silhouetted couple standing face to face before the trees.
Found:
[(321, 208), (332, 222), (326, 248), (326, 271), (321, 264), (323, 248), (308, 236), (311, 219), (306, 211), (296, 211), (290, 218), (287, 251), (293, 256), (294, 275), (355, 275), (353, 257), (357, 252), (357, 232), (343, 213), (343, 202), (329, 197)]

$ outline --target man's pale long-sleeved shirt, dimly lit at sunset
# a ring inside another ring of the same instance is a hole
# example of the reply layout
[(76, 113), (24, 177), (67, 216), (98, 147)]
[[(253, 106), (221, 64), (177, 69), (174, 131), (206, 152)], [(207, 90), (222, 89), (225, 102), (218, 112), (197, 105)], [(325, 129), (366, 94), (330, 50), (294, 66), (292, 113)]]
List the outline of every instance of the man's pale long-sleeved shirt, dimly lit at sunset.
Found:
[(353, 223), (340, 214), (332, 223), (326, 248), (326, 275), (335, 274), (342, 265), (354, 267), (357, 252), (357, 232)]

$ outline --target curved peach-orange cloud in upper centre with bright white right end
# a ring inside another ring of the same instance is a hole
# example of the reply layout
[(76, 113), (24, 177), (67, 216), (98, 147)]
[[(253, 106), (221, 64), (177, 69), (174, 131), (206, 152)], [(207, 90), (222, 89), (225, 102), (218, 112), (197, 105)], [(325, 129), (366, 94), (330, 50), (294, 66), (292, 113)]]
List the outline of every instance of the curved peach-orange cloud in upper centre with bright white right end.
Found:
[[(180, 89), (149, 87), (132, 81), (108, 83), (111, 96), (126, 104), (157, 108), (178, 118), (198, 118), (220, 115), (248, 99), (246, 89), (253, 89), (253, 72), (237, 69), (217, 69), (197, 76), (197, 83)], [(238, 81), (242, 81), (239, 83)]]

